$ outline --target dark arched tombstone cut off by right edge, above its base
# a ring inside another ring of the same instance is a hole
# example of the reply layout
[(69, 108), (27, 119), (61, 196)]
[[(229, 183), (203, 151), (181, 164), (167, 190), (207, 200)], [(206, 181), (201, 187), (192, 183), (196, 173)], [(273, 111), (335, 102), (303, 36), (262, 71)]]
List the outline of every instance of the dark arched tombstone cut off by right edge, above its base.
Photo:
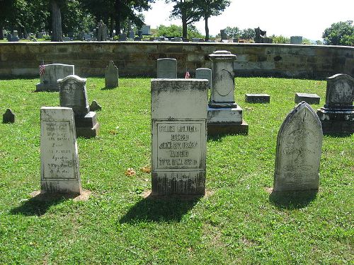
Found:
[(327, 78), (326, 105), (329, 108), (353, 108), (354, 78), (338, 73)]

